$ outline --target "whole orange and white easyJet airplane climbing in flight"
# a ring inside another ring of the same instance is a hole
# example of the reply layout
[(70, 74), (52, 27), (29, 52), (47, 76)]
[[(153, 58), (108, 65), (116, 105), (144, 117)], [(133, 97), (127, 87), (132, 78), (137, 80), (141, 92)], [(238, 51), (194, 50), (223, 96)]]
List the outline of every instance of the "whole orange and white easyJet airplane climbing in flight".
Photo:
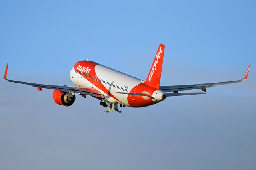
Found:
[[(166, 99), (166, 97), (205, 94), (204, 92), (206, 92), (206, 88), (209, 87), (245, 81), (251, 66), (249, 65), (244, 78), (236, 81), (160, 86), (164, 48), (165, 45), (159, 45), (148, 73), (148, 77), (145, 81), (132, 77), (127, 73), (122, 73), (98, 64), (94, 61), (88, 61), (88, 59), (78, 61), (70, 70), (70, 79), (72, 83), (76, 85), (74, 87), (9, 80), (7, 79), (8, 63), (4, 72), (4, 79), (13, 83), (32, 85), (39, 91), (42, 91), (43, 88), (53, 89), (53, 99), (59, 105), (72, 105), (76, 99), (75, 93), (78, 93), (84, 98), (86, 98), (86, 95), (90, 95), (100, 100), (100, 105), (108, 107), (108, 110), (105, 111), (106, 113), (110, 113), (113, 109), (120, 113), (121, 111), (119, 110), (119, 106), (146, 107), (159, 103)], [(194, 89), (201, 89), (203, 92), (179, 92)]]

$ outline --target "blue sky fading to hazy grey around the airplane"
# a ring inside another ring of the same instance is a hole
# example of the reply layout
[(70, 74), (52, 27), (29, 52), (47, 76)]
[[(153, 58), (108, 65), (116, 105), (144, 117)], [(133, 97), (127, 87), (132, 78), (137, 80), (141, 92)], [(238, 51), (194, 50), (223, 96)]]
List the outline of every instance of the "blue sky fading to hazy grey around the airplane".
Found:
[(87, 57), (145, 79), (160, 43), (161, 85), (237, 80), (252, 66), (243, 83), (121, 114), (90, 96), (63, 107), (52, 90), (1, 79), (0, 169), (255, 169), (255, 30), (254, 0), (1, 1), (10, 79), (72, 85)]

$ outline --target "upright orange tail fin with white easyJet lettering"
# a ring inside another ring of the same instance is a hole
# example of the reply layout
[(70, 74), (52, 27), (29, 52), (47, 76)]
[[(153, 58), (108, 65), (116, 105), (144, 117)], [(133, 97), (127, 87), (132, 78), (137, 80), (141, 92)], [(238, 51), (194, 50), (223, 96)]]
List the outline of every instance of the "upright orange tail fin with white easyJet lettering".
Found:
[(146, 85), (159, 89), (163, 59), (164, 59), (164, 45), (160, 44), (156, 52), (156, 57), (154, 58), (153, 64), (148, 73), (148, 77), (144, 82)]

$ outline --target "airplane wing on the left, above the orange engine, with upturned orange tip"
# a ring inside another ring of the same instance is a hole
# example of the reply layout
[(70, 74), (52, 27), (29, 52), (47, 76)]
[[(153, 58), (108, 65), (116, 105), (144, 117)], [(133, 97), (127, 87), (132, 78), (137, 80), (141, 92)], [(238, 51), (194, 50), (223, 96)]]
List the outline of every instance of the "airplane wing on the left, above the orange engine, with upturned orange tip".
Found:
[(104, 98), (104, 95), (97, 91), (96, 89), (92, 87), (69, 87), (65, 85), (44, 85), (44, 84), (37, 84), (37, 83), (28, 83), (28, 82), (23, 82), (23, 81), (16, 81), (16, 80), (9, 80), (7, 79), (7, 71), (8, 71), (8, 63), (6, 65), (6, 69), (4, 72), (4, 79), (6, 79), (9, 82), (13, 83), (20, 83), (20, 84), (26, 84), (26, 85), (32, 85), (33, 87), (36, 87), (39, 91), (42, 91), (42, 88), (45, 89), (55, 89), (59, 91), (70, 91), (73, 93), (80, 93), (84, 95), (90, 95), (93, 97), (100, 97)]

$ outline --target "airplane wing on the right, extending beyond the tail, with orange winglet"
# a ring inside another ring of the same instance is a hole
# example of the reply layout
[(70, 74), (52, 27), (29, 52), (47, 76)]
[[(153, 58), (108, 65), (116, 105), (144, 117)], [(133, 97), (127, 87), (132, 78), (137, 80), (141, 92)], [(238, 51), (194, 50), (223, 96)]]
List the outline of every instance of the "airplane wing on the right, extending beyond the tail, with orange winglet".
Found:
[(178, 91), (193, 90), (193, 89), (201, 89), (202, 91), (206, 92), (206, 88), (208, 88), (208, 87), (214, 87), (216, 85), (226, 85), (226, 84), (232, 84), (232, 83), (239, 83), (239, 82), (245, 81), (247, 79), (247, 76), (248, 76), (248, 73), (249, 73), (249, 70), (250, 70), (250, 66), (251, 65), (249, 65), (249, 67), (246, 71), (246, 75), (241, 80), (224, 81), (224, 82), (217, 82), (217, 83), (206, 83), (206, 84), (195, 84), (195, 85), (160, 86), (159, 88), (164, 92), (174, 92), (174, 93), (178, 93)]

